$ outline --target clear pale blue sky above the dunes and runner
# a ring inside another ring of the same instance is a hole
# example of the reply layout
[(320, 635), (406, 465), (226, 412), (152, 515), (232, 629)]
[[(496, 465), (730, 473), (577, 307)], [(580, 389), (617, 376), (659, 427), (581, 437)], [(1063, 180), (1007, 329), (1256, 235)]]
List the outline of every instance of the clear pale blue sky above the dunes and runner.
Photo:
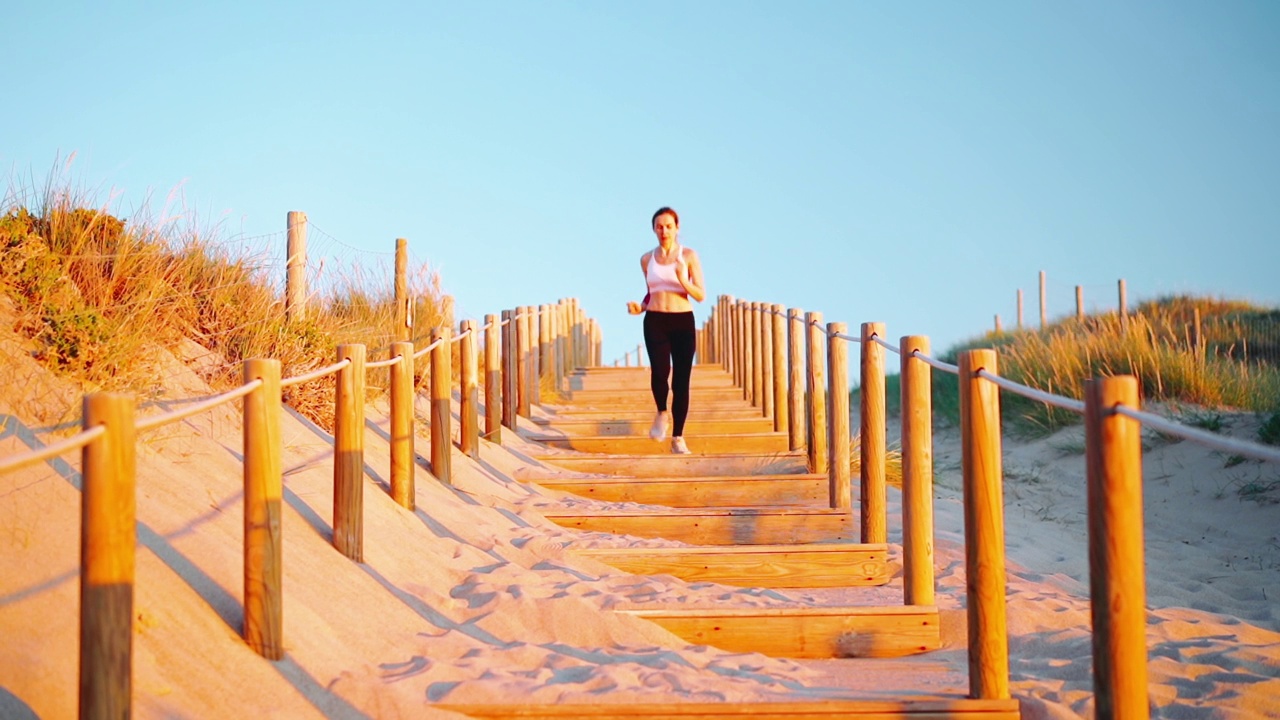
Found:
[[(1196, 292), (1280, 305), (1280, 3), (65, 3), (5, 9), (0, 165), (224, 234), (410, 240), (460, 316), (579, 297), (649, 217), (728, 293), (941, 350)], [(178, 190), (179, 192), (175, 192)], [(316, 242), (316, 241), (312, 241)], [(273, 249), (283, 256), (283, 247)], [(699, 322), (709, 302), (699, 306)]]

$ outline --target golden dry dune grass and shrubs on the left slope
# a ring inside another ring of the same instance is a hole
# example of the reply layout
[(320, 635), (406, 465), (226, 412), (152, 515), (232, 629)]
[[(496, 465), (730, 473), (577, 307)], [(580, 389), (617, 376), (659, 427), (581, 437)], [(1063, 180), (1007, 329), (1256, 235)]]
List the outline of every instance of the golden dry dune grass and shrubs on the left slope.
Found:
[[(32, 195), (10, 190), (0, 209), (0, 293), (35, 357), (86, 392), (154, 395), (163, 378), (146, 359), (184, 340), (220, 357), (206, 373), (215, 388), (239, 384), (246, 359), (275, 357), (289, 377), (332, 364), (339, 343), (362, 342), (378, 359), (393, 340), (390, 272), (339, 275), (311, 299), (305, 319), (289, 320), (283, 277), (271, 277), (264, 258), (227, 250), (216, 228), (157, 229), (52, 187), (20, 201)], [(439, 278), (420, 268), (410, 284), (417, 327), (447, 322)], [(288, 388), (285, 401), (330, 427), (332, 384)], [(379, 386), (376, 375), (370, 386)]]

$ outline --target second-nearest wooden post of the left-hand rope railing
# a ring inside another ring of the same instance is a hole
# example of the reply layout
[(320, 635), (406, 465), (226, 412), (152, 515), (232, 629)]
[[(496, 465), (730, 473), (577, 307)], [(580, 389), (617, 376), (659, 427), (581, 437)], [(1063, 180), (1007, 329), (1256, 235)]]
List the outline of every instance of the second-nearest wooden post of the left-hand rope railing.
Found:
[(280, 361), (246, 360), (243, 380), (262, 380), (243, 402), (244, 642), (268, 660), (284, 657), (283, 537), (284, 436)]

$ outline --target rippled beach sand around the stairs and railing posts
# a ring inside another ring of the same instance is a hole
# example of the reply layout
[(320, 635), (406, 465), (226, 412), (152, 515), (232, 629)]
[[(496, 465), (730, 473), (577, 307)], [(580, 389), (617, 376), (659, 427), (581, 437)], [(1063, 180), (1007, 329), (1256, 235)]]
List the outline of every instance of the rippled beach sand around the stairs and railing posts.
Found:
[[(60, 437), (76, 397), (0, 340), (0, 456)], [(168, 365), (189, 396), (196, 373)], [(205, 392), (209, 392), (205, 388)], [(33, 411), (41, 409), (44, 411)], [(164, 404), (141, 413), (163, 411)], [(74, 413), (70, 413), (74, 415)], [(425, 405), (420, 407), (425, 416)], [(1252, 418), (1228, 416), (1248, 437)], [(332, 546), (332, 438), (285, 418), (284, 644), (239, 637), (241, 429), (227, 406), (141, 437), (133, 710), (138, 717), (433, 717), (435, 702), (722, 702), (963, 697), (959, 442), (936, 436), (938, 606), (927, 659), (786, 660), (691, 646), (616, 612), (662, 603), (901, 602), (883, 588), (776, 591), (630, 575), (567, 552), (671, 544), (559, 528), (540, 510), (609, 506), (521, 483), (539, 448), (504, 433), (454, 450), (452, 487), (417, 470), (417, 510), (388, 492), (385, 407), (369, 409), (364, 562)], [(856, 427), (856, 425), (855, 425)], [(426, 428), (417, 451), (429, 455)], [(65, 432), (63, 432), (65, 434)], [(1024, 717), (1092, 716), (1084, 461), (1078, 429), (1006, 439), (1011, 689)], [(0, 717), (76, 715), (78, 454), (0, 475)], [(1188, 442), (1144, 459), (1151, 700), (1156, 717), (1280, 716), (1280, 469)], [(1252, 483), (1252, 484), (1251, 484)], [(1240, 489), (1245, 488), (1242, 495)], [(1271, 498), (1280, 493), (1271, 492)], [(891, 542), (900, 539), (890, 492)]]

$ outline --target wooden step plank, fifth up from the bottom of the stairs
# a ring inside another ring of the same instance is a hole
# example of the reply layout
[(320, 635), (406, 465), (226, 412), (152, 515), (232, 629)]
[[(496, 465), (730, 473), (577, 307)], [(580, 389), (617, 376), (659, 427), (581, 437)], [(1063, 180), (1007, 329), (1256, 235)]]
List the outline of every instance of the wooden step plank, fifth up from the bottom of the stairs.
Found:
[(667, 507), (827, 507), (826, 475), (724, 475), (718, 478), (544, 478), (538, 484), (605, 502)]

